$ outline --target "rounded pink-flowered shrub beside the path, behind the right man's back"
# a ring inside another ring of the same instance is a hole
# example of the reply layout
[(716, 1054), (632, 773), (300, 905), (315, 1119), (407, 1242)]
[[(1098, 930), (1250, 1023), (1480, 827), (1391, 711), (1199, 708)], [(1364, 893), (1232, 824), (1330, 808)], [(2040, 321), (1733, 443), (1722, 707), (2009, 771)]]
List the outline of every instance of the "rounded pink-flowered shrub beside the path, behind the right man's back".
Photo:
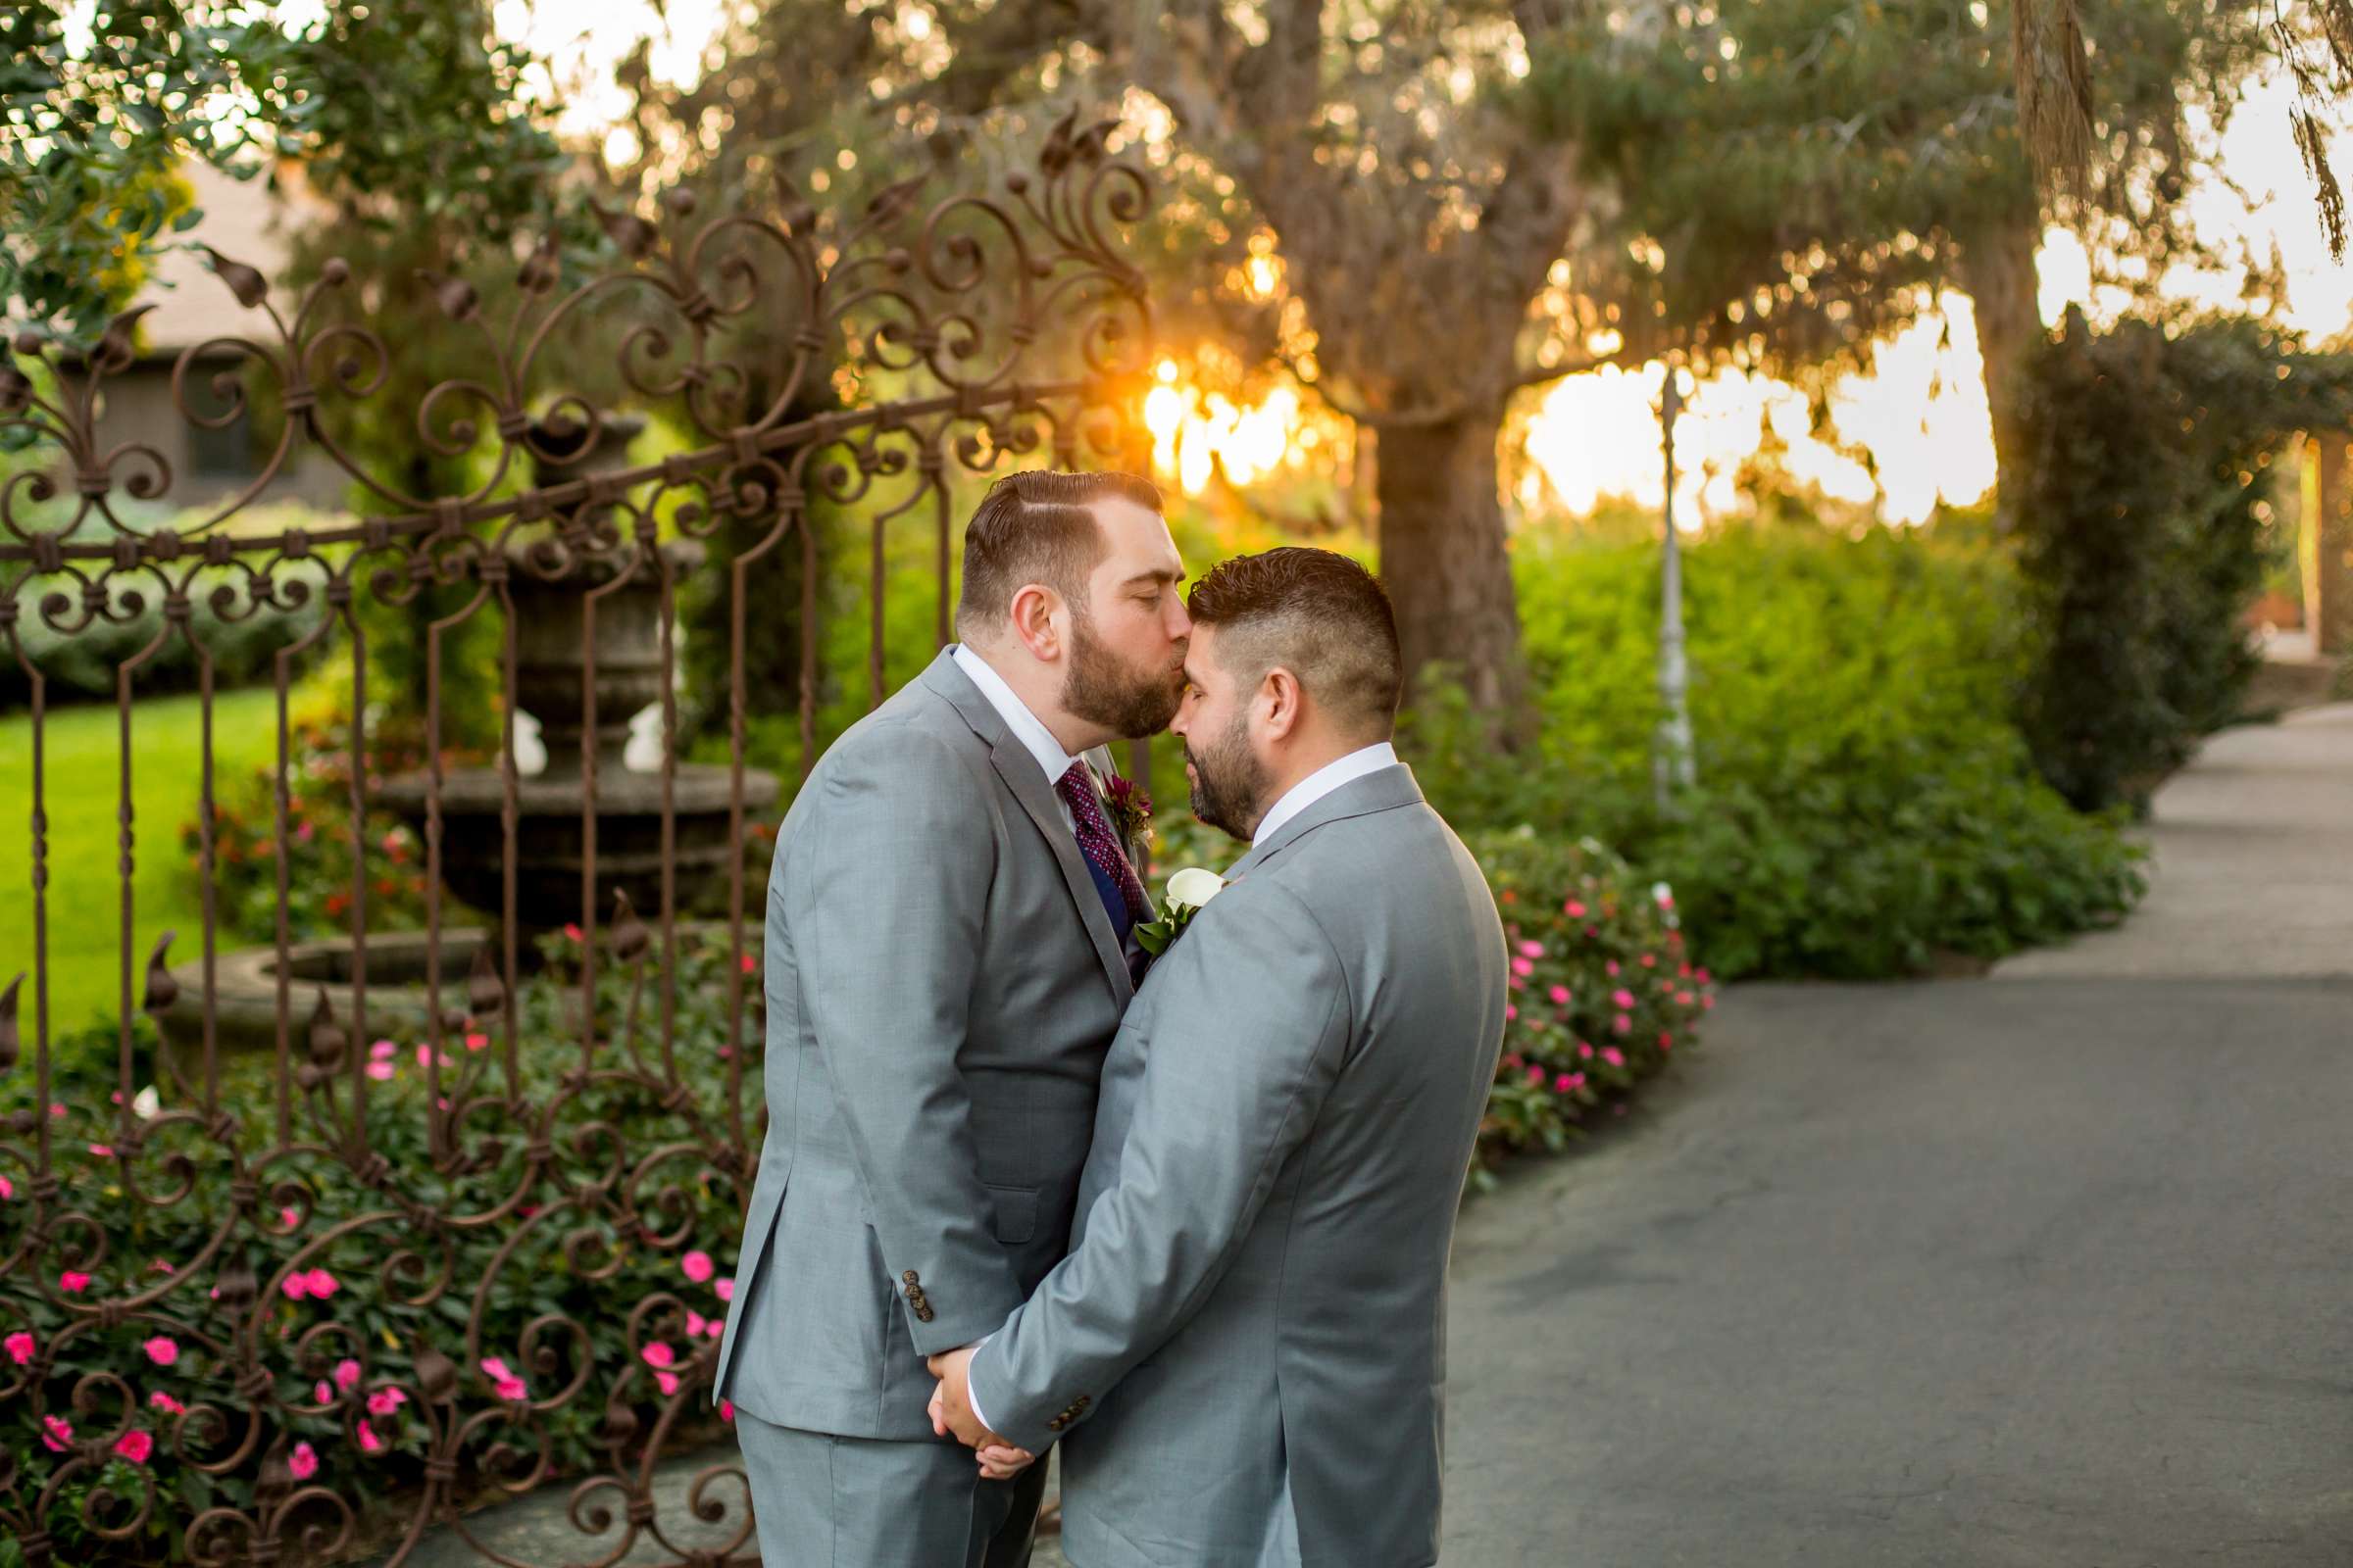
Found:
[(1504, 1056), (1473, 1171), (1487, 1185), (1499, 1157), (1560, 1150), (1588, 1119), (1624, 1114), (1642, 1079), (1697, 1044), (1715, 985), (1685, 947), (1673, 889), (1645, 886), (1593, 839), (1513, 832), (1473, 849), (1511, 945)]

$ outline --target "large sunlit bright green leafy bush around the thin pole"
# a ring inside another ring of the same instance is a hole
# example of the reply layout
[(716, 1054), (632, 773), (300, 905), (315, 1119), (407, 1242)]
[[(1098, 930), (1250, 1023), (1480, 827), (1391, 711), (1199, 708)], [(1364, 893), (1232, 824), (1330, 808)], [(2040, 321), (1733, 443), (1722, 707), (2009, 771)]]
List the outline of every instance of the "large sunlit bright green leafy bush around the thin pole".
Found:
[(1661, 811), (1657, 548), (1532, 536), (1520, 614), (1544, 729), (1497, 757), (1433, 682), (1405, 726), (1459, 827), (1593, 837), (1671, 882), (1725, 978), (1899, 976), (2113, 922), (2141, 893), (2115, 818), (2033, 771), (2012, 693), (2021, 588), (1984, 534), (1729, 529), (1685, 559), (1699, 788)]

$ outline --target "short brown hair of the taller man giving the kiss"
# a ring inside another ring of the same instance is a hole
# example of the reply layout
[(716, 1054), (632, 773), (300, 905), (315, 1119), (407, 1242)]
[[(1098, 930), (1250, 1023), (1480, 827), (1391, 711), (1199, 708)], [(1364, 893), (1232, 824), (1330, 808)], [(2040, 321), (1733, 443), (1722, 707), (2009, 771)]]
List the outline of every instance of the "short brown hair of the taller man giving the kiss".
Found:
[(1160, 489), (1132, 473), (1009, 473), (991, 484), (965, 524), (962, 635), (1000, 625), (1026, 583), (1045, 583), (1085, 616), (1087, 574), (1108, 550), (1089, 508), (1113, 496), (1160, 510)]

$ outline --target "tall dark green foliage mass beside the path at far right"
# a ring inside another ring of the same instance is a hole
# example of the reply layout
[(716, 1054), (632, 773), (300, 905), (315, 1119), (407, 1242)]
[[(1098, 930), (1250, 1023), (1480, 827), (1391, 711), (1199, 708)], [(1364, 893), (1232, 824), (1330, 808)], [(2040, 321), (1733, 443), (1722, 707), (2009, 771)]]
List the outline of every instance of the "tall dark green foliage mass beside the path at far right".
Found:
[(2038, 661), (2021, 693), (2035, 764), (2080, 809), (2144, 809), (2226, 724), (2259, 656), (2266, 470), (2353, 416), (2353, 357), (2249, 320), (2122, 322), (2068, 310), (2026, 364), (2021, 567)]

